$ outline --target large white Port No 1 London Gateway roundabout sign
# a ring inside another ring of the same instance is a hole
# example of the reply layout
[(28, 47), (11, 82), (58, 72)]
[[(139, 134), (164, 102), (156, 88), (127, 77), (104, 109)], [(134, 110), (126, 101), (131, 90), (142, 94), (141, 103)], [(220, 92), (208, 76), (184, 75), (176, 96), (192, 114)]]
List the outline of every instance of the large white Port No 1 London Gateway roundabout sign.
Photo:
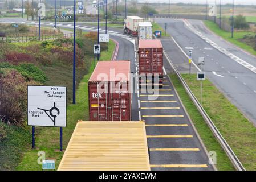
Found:
[(66, 127), (66, 86), (27, 86), (27, 124)]

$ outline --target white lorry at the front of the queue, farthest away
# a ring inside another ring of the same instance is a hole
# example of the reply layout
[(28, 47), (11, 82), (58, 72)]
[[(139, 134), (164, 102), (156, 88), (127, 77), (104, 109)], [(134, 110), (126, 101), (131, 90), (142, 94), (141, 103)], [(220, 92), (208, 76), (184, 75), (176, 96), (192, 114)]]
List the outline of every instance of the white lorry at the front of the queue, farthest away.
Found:
[(139, 22), (143, 22), (144, 19), (139, 16), (127, 16), (124, 20), (124, 33), (132, 36), (138, 35)]

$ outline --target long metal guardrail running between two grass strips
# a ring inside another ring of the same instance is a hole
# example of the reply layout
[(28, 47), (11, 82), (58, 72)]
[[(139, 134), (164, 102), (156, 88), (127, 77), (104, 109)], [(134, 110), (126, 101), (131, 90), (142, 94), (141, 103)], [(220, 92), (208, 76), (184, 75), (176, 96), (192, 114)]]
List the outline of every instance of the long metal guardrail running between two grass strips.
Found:
[(221, 135), (220, 131), (217, 129), (217, 127), (214, 125), (212, 119), (209, 117), (209, 115), (206, 113), (206, 111), (204, 110), (204, 107), (202, 107), (202, 105), (200, 104), (200, 102), (197, 100), (196, 96), (194, 96), (192, 90), (190, 90), (188, 84), (186, 84), (186, 81), (184, 80), (184, 78), (181, 76), (180, 72), (178, 72), (178, 69), (175, 67), (175, 65), (173, 64), (172, 60), (170, 59), (170, 57), (168, 56), (168, 54), (165, 52), (164, 50), (164, 55), (166, 57), (166, 59), (168, 60), (170, 66), (173, 68), (173, 70), (176, 72), (178, 78), (180, 79), (183, 87), (186, 90), (186, 93), (188, 93), (190, 99), (193, 101), (194, 105), (196, 105), (198, 111), (200, 112), (200, 114), (202, 115), (202, 117), (204, 118), (205, 122), (207, 123), (207, 125), (209, 126), (210, 130), (212, 130), (212, 133), (214, 134), (214, 136), (217, 138), (218, 142), (221, 144), (221, 147), (224, 149), (224, 151), (226, 152), (227, 156), (229, 157), (229, 159), (231, 160), (231, 162), (233, 163), (234, 167), (238, 170), (238, 171), (246, 171), (246, 169), (243, 167), (242, 163), (239, 161), (239, 159), (237, 158), (237, 156), (235, 155), (234, 151), (231, 149), (231, 147), (229, 146), (229, 144), (226, 142), (226, 140), (224, 139), (224, 137)]

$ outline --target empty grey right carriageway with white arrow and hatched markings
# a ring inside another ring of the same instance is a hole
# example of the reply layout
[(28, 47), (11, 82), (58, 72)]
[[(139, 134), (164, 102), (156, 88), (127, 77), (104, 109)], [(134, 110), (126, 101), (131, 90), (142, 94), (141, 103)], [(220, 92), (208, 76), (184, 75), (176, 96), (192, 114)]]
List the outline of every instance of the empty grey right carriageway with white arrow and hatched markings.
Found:
[[(198, 57), (205, 57), (203, 70), (206, 76), (222, 93), (235, 105), (243, 114), (256, 126), (256, 74), (253, 67), (256, 66), (254, 56), (248, 55), (241, 49), (225, 42), (218, 36), (208, 31), (200, 20), (188, 20), (186, 23), (177, 19), (156, 19), (164, 27), (167, 24), (167, 31), (174, 40), (188, 55), (186, 47), (193, 47), (193, 60), (197, 64)], [(192, 26), (193, 31), (186, 26)], [(197, 34), (200, 32), (200, 36)], [(202, 36), (204, 36), (202, 39)], [(208, 42), (205, 40), (207, 39)], [(163, 40), (164, 48), (167, 50), (170, 59), (174, 61), (182, 72), (188, 72), (188, 58), (182, 54), (174, 40)], [(216, 44), (211, 44), (212, 42)], [(217, 47), (217, 48), (216, 48)], [(219, 49), (224, 48), (226, 52)], [(231, 58), (230, 56), (233, 56)], [(238, 59), (245, 63), (239, 64)], [(197, 70), (193, 68), (193, 72)]]

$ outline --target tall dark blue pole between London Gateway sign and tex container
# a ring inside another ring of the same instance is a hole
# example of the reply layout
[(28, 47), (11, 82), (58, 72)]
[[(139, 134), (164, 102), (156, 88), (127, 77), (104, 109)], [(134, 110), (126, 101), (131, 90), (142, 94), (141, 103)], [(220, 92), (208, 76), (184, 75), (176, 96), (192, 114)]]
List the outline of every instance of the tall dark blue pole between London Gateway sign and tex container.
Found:
[[(56, 1), (56, 0), (55, 0)], [(73, 104), (76, 104), (76, 0), (74, 0)]]

